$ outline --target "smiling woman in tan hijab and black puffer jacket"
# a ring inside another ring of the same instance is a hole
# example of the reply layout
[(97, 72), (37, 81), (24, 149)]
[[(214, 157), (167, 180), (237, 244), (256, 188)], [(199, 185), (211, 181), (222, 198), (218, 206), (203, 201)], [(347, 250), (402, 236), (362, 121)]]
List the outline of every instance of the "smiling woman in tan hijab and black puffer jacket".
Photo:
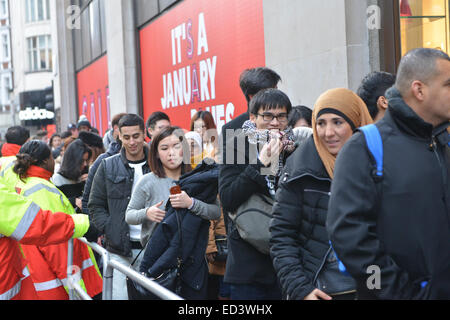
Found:
[(339, 271), (325, 221), (336, 157), (353, 132), (370, 123), (355, 93), (329, 90), (314, 106), (313, 135), (287, 160), (270, 228), (270, 254), (287, 299), (356, 298), (354, 280)]

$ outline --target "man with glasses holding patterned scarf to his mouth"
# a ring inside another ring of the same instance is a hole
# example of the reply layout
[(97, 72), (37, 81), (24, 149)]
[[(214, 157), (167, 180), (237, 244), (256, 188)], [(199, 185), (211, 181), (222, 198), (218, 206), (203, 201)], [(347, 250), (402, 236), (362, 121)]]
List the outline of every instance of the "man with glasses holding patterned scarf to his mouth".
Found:
[[(274, 194), (280, 154), (293, 146), (285, 131), (291, 109), (289, 98), (277, 89), (262, 90), (250, 101), (250, 120), (233, 142), (236, 162), (224, 162), (220, 170), (219, 194), (225, 211), (235, 212), (253, 194)], [(262, 148), (258, 149), (258, 144)], [(224, 282), (231, 284), (231, 299), (281, 299), (270, 256), (243, 240), (231, 221), (227, 234)]]

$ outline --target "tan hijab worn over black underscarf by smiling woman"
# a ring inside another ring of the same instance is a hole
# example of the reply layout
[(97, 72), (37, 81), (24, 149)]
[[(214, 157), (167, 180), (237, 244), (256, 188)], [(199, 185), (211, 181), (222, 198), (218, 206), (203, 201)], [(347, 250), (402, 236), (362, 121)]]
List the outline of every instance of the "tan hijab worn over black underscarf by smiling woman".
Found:
[(351, 90), (344, 88), (331, 89), (317, 99), (312, 116), (314, 143), (325, 169), (331, 179), (333, 179), (336, 157), (322, 143), (316, 128), (318, 116), (324, 113), (338, 114), (350, 124), (353, 130), (371, 124), (373, 120), (364, 101)]

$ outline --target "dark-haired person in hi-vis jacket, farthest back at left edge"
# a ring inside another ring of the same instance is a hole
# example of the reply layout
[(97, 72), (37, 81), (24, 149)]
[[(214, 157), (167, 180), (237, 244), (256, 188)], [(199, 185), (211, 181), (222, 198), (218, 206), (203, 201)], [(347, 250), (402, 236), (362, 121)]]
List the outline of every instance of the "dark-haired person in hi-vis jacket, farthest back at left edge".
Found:
[(6, 143), (1, 149), (0, 181), (10, 190), (14, 190), (14, 186), (19, 180), (12, 170), (14, 161), (16, 161), (16, 155), (22, 145), (30, 139), (30, 131), (22, 126), (10, 127), (5, 138)]

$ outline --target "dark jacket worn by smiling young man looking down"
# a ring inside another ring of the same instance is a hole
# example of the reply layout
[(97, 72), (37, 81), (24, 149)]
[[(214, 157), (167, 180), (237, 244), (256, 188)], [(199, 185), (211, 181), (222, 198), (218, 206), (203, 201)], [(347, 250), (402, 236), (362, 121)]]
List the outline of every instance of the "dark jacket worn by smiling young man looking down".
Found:
[[(148, 150), (144, 148), (145, 159)], [(142, 173), (150, 172), (148, 163)], [(131, 199), (134, 169), (128, 165), (125, 149), (102, 160), (92, 182), (89, 195), (89, 214), (95, 227), (105, 235), (106, 249), (112, 253), (131, 257), (130, 226), (125, 222), (125, 211)]]

